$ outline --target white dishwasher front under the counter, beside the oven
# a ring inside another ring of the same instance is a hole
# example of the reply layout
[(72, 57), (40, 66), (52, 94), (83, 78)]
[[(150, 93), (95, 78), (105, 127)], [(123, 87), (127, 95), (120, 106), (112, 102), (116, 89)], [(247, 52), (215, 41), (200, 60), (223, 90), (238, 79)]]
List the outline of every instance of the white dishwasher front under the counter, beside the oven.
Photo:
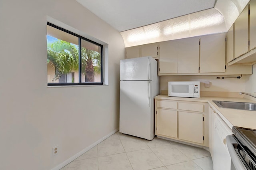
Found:
[(212, 162), (214, 170), (230, 170), (231, 158), (226, 145), (226, 136), (232, 129), (214, 112), (212, 115)]

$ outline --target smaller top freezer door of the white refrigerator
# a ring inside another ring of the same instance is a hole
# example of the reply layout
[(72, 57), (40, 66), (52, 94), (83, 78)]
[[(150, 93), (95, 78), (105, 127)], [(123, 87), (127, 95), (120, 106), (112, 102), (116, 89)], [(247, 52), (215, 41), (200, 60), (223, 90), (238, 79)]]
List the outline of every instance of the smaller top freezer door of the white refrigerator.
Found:
[(151, 80), (152, 57), (120, 60), (120, 80)]

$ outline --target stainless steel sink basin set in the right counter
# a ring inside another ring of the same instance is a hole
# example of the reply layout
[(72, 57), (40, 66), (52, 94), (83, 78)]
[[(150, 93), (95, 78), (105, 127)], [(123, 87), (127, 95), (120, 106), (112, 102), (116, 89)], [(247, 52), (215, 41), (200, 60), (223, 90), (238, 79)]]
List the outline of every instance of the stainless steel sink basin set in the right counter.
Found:
[(246, 111), (256, 111), (256, 103), (244, 103), (244, 102), (233, 102), (233, 101), (215, 101), (213, 102), (218, 107), (224, 107), (229, 109), (240, 109)]

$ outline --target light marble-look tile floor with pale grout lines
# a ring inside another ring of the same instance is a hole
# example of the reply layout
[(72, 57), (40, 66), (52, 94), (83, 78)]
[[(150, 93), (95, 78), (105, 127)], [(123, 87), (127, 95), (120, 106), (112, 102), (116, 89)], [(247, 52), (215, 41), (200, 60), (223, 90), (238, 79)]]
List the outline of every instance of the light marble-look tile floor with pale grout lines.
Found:
[(61, 170), (213, 170), (210, 152), (116, 132)]

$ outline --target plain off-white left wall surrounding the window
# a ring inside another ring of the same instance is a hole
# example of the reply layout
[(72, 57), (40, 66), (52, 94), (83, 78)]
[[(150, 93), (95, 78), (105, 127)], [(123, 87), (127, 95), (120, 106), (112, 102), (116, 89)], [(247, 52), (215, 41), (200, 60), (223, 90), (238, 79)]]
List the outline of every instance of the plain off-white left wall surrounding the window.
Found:
[[(47, 87), (47, 16), (104, 42), (108, 85)], [(74, 0), (1, 0), (0, 23), (1, 170), (50, 170), (118, 129), (118, 31)]]

